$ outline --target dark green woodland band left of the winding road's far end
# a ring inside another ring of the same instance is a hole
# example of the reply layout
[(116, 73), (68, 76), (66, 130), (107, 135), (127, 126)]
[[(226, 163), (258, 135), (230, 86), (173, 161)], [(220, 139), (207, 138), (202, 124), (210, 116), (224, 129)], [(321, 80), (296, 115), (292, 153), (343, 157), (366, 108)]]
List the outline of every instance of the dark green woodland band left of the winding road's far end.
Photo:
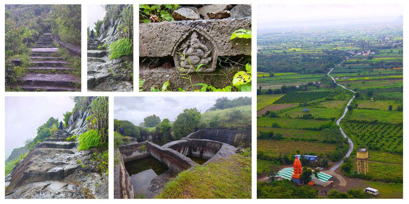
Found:
[(294, 58), (293, 55), (257, 55), (257, 71), (262, 72), (297, 72), (300, 74), (326, 73), (344, 59), (344, 55), (324, 55), (311, 58), (303, 55)]

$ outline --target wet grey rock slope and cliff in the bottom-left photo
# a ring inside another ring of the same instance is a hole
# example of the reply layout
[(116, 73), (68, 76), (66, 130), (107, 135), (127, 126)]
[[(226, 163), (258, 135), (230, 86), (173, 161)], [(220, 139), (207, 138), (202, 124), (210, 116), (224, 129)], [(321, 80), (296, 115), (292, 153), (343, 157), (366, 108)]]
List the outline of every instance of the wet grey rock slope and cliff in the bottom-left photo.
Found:
[[(89, 99), (92, 102), (94, 97)], [(100, 148), (78, 151), (66, 138), (87, 130), (89, 110), (71, 115), (67, 129), (57, 131), (32, 149), (5, 177), (6, 198), (108, 198), (108, 176), (92, 154)]]

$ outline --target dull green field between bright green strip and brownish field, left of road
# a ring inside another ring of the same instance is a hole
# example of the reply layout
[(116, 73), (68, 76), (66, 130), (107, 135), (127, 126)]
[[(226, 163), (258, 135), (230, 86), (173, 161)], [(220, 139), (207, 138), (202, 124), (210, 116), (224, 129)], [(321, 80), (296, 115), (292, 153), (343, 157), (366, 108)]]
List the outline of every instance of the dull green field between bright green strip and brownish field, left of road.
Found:
[(323, 140), (323, 138), (319, 135), (321, 131), (318, 131), (318, 130), (257, 127), (257, 135), (260, 135), (260, 131), (273, 131), (274, 133), (281, 133), (283, 134), (283, 137), (296, 137), (296, 138)]

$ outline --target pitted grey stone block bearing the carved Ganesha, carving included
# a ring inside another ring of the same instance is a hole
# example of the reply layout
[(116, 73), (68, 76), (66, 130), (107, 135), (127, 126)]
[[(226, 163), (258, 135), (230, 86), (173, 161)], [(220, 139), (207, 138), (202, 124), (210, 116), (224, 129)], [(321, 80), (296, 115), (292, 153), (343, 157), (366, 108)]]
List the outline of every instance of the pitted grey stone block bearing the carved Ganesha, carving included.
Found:
[(238, 29), (251, 30), (251, 18), (139, 24), (139, 56), (171, 55), (175, 67), (194, 71), (205, 64), (198, 71), (211, 72), (218, 56), (250, 55), (251, 39), (230, 40)]

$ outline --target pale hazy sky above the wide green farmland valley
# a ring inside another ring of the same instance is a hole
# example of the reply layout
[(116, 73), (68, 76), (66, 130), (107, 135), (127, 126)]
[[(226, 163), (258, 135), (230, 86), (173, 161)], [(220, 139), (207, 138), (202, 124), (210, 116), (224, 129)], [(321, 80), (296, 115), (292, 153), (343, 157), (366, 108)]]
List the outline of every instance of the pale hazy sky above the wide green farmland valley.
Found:
[(287, 4), (257, 6), (257, 23), (403, 15), (402, 5)]

